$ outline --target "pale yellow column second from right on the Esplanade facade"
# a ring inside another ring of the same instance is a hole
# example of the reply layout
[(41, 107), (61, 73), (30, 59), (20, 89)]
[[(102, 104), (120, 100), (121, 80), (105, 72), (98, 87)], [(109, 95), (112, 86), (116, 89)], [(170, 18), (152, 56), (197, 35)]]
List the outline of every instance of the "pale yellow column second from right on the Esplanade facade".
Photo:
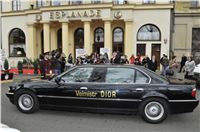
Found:
[(104, 21), (104, 48), (109, 49), (109, 58), (112, 56), (112, 30), (111, 30), (111, 20)]

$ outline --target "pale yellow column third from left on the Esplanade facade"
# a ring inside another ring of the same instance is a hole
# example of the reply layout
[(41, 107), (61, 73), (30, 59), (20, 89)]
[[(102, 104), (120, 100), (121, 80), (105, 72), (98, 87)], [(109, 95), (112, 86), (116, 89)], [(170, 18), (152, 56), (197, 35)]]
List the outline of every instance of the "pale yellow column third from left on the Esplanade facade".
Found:
[(69, 50), (69, 24), (68, 21), (62, 22), (62, 52), (68, 57)]

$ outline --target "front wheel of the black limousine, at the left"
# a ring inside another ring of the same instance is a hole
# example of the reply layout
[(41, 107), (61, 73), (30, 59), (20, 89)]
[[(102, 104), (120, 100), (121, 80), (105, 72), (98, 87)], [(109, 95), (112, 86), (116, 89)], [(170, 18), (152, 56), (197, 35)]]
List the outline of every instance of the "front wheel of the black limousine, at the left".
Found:
[(39, 101), (37, 96), (27, 90), (19, 90), (14, 96), (15, 105), (22, 113), (31, 114), (39, 110)]

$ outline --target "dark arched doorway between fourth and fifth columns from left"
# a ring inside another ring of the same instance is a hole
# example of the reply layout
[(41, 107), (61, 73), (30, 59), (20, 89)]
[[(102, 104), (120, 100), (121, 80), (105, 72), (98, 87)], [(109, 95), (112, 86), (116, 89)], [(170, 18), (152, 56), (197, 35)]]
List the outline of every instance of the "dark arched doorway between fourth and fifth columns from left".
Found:
[(98, 27), (94, 31), (93, 52), (100, 54), (100, 49), (104, 47), (104, 30)]

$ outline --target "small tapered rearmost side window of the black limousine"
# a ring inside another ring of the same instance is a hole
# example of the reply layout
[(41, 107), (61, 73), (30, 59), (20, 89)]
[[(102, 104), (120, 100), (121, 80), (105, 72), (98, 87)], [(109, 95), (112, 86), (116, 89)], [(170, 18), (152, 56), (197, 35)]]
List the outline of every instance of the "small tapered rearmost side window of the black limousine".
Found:
[(142, 72), (140, 71), (136, 71), (136, 76), (135, 76), (135, 83), (148, 83), (149, 82), (149, 78), (147, 76), (145, 76)]

